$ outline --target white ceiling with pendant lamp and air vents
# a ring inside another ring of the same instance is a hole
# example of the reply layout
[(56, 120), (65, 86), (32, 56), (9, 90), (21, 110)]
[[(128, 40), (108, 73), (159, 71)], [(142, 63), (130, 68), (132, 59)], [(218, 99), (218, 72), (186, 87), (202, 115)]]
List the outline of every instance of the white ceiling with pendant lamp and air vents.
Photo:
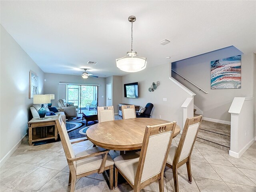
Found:
[[(2, 26), (46, 73), (128, 74), (115, 59), (131, 48), (130, 15), (137, 18), (133, 49), (147, 67), (231, 45), (256, 52), (256, 1), (1, 0), (0, 6)], [(164, 39), (170, 43), (162, 46)]]

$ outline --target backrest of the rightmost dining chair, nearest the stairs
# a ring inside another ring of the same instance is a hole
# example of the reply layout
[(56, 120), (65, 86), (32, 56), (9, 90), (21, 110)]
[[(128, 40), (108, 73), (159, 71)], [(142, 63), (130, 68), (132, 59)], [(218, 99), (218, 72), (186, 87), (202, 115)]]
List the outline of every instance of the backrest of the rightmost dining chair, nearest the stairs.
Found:
[(186, 119), (173, 163), (178, 163), (191, 155), (201, 122), (202, 115)]

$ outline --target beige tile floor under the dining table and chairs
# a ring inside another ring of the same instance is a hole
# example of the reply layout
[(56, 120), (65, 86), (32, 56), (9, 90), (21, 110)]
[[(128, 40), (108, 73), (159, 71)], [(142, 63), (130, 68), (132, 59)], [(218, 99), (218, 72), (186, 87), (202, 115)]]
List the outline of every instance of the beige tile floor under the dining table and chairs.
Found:
[[(177, 145), (180, 135), (172, 141)], [(73, 145), (75, 153), (92, 147), (90, 141)], [(110, 151), (114, 158), (119, 152)], [(178, 169), (180, 192), (256, 192), (256, 142), (239, 159), (228, 153), (196, 142), (192, 153), (192, 184), (187, 182), (186, 165)], [(20, 147), (0, 169), (1, 192), (68, 192), (69, 168), (61, 142), (29, 146), (24, 138)], [(172, 170), (166, 168), (164, 191), (173, 192)], [(131, 192), (121, 176), (114, 192)], [(80, 178), (76, 192), (109, 192), (108, 173)], [(142, 190), (158, 191), (158, 183)]]

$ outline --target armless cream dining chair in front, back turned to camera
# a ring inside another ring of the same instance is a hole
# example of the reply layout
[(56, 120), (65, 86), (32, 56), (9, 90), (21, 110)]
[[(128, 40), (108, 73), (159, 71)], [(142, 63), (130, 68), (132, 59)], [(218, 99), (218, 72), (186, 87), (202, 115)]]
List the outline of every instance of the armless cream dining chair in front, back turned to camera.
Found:
[(159, 191), (164, 191), (164, 167), (175, 126), (176, 122), (146, 126), (141, 151), (114, 158), (115, 188), (119, 172), (134, 192), (155, 181), (158, 181)]

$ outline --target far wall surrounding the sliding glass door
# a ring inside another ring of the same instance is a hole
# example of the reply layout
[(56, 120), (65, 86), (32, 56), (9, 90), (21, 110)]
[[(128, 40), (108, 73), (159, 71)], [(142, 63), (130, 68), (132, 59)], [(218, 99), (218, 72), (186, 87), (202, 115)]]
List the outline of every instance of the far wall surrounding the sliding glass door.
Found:
[(45, 73), (44, 78), (46, 79), (46, 82), (44, 82), (44, 93), (55, 95), (55, 99), (52, 100), (52, 106), (58, 107), (58, 100), (66, 98), (66, 85), (59, 85), (59, 82), (74, 84), (100, 84), (98, 87), (98, 106), (106, 105), (106, 78), (89, 77), (87, 79), (83, 79), (81, 76), (54, 73)]

